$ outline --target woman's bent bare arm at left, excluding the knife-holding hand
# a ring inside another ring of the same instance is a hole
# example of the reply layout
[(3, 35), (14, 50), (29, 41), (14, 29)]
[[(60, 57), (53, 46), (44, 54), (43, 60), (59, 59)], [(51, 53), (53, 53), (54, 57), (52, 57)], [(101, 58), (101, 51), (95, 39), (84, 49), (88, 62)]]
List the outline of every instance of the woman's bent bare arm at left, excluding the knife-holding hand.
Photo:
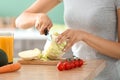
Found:
[(35, 25), (36, 17), (41, 13), (47, 13), (53, 7), (58, 5), (58, 0), (36, 0), (27, 10), (25, 10), (16, 19), (16, 27), (19, 28), (30, 28)]

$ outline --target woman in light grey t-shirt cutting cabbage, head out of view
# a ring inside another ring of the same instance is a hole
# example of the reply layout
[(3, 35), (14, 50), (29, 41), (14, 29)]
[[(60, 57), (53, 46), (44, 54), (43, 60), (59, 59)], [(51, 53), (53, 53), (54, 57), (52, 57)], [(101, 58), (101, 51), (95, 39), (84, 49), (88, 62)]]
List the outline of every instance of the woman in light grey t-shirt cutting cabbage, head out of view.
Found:
[[(37, 0), (17, 19), (16, 26), (36, 26), (41, 34), (52, 27), (46, 13), (59, 0)], [(64, 19), (70, 29), (58, 36), (68, 40), (63, 51), (72, 47), (73, 54), (85, 59), (105, 59), (107, 66), (95, 80), (120, 80), (116, 62), (120, 59), (120, 0), (63, 0)], [(46, 6), (47, 5), (47, 6)]]

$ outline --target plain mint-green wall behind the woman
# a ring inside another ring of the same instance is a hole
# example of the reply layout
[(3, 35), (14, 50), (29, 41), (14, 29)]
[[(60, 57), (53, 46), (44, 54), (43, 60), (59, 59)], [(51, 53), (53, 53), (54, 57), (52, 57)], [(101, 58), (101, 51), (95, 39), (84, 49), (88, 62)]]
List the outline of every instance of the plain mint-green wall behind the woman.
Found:
[[(1, 0), (0, 17), (17, 17), (36, 0)], [(53, 23), (64, 24), (63, 3), (51, 10), (48, 15)]]

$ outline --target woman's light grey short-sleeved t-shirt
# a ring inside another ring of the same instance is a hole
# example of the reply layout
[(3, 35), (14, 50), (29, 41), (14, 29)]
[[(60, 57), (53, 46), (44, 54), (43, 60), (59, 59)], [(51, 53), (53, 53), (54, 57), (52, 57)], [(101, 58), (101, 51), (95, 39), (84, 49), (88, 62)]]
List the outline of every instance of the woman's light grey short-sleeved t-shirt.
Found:
[[(63, 3), (66, 26), (116, 41), (116, 10), (120, 8), (120, 0), (63, 0)], [(95, 80), (120, 80), (117, 59), (99, 53), (82, 41), (75, 43), (72, 51), (80, 58), (107, 61), (106, 68)]]

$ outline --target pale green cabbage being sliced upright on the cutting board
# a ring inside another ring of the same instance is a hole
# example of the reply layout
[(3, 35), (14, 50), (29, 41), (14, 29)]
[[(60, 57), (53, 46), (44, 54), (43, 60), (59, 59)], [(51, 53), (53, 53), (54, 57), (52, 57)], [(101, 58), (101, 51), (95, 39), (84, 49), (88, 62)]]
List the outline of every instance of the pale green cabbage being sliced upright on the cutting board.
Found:
[(43, 51), (43, 55), (49, 59), (60, 59), (64, 54), (62, 50), (66, 45), (66, 41), (61, 44), (56, 43), (55, 39), (58, 35), (58, 33), (54, 33), (52, 35), (52, 40), (50, 41), (49, 46), (47, 46)]

